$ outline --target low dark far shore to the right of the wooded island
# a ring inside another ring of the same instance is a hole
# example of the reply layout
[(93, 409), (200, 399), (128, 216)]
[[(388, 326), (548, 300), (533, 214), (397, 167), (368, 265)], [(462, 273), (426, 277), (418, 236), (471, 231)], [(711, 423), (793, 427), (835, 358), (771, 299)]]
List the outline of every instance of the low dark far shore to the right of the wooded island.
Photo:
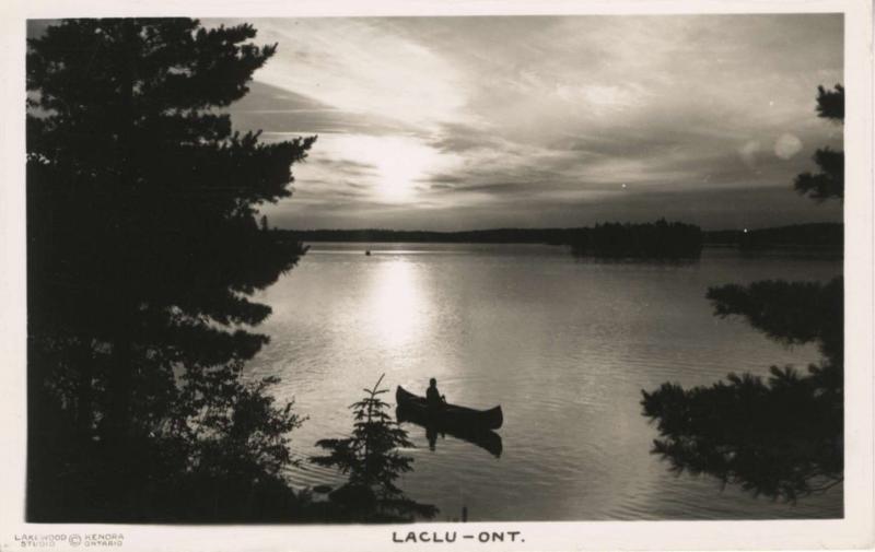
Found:
[(777, 228), (705, 232), (708, 246), (756, 249), (838, 249), (844, 246), (844, 225), (824, 222)]

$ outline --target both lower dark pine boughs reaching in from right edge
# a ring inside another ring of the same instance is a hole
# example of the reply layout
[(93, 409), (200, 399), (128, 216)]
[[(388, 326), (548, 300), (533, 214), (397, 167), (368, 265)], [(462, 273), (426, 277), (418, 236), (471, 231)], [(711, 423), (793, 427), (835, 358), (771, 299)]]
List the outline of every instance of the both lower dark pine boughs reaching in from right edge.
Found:
[(719, 316), (742, 315), (788, 344), (816, 342), (819, 365), (800, 374), (772, 366), (762, 378), (642, 391), (657, 422), (653, 453), (677, 472), (707, 473), (755, 495), (796, 501), (843, 480), (842, 280), (766, 281), (709, 290)]

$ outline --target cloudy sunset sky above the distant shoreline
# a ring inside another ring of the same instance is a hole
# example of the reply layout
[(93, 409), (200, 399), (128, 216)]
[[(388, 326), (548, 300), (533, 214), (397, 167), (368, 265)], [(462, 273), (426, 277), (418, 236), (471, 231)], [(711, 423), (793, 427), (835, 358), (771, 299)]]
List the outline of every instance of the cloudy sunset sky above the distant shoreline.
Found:
[(246, 21), (278, 51), (234, 126), (318, 136), (264, 210), (276, 226), (842, 216), (792, 189), (817, 148), (841, 149), (815, 111), (842, 82), (840, 14)]

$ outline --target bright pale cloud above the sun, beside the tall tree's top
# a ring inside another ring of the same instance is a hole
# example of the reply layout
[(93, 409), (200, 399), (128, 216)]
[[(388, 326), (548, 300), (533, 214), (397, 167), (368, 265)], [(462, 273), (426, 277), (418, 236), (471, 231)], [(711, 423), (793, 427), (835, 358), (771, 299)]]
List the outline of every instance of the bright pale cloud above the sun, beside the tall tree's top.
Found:
[(421, 126), (455, 119), (463, 103), (455, 68), (425, 42), (385, 32), (388, 24), (365, 19), (261, 20), (256, 25), (258, 40), (278, 43), (279, 52), (256, 79), (346, 113)]

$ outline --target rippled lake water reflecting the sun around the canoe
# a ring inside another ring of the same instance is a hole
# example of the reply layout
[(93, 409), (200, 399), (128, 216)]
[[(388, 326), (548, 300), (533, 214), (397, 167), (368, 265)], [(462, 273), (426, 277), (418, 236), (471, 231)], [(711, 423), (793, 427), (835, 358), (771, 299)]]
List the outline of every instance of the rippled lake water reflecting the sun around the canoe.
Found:
[[(664, 381), (804, 369), (815, 347), (788, 349), (714, 317), (705, 292), (840, 273), (840, 259), (728, 249), (677, 266), (582, 261), (550, 246), (315, 244), (256, 297), (273, 308), (259, 328), (271, 342), (248, 369), (280, 376), (275, 395), (310, 416), (292, 434), (302, 458), (318, 438), (349, 434), (347, 407), (381, 374), (392, 403), (396, 386), (424, 395), (430, 377), (451, 402), (500, 403), (500, 457), (450, 435), (431, 450), (425, 430), (405, 424), (417, 447), (400, 486), (438, 505), (436, 520), (463, 505), (477, 521), (841, 517), (840, 485), (794, 505), (675, 475), (650, 454), (657, 432), (639, 404)], [(343, 481), (306, 463), (289, 478)]]

